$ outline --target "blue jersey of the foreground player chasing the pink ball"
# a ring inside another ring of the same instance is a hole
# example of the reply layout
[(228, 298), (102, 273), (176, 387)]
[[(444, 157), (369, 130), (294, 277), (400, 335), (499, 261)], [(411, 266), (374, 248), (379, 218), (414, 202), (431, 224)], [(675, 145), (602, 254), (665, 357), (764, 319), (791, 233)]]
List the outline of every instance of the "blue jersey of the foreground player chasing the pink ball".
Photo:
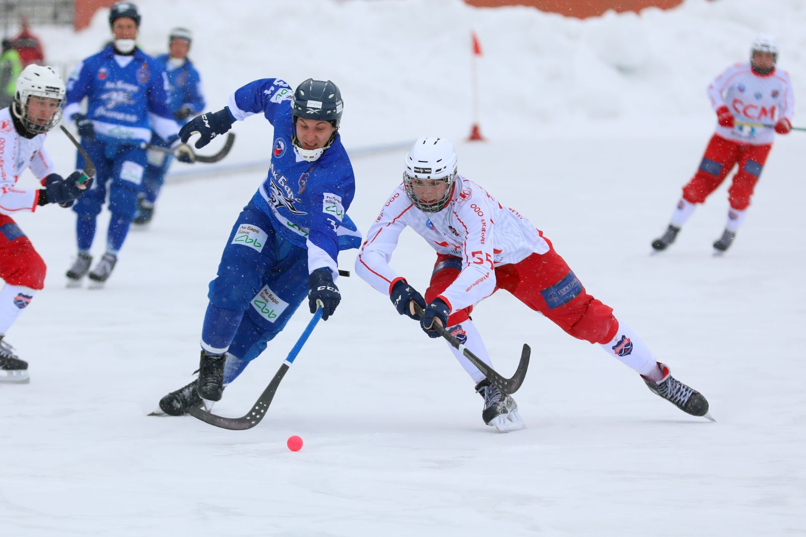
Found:
[(236, 90), (227, 106), (235, 119), (263, 113), (274, 127), (268, 177), (253, 202), (282, 237), (308, 248), (310, 272), (328, 267), (335, 273), (339, 250), (359, 248), (361, 243), (361, 234), (347, 216), (355, 176), (338, 133), (318, 160), (309, 162), (297, 154), (292, 144), (292, 96), (285, 81), (264, 78)]

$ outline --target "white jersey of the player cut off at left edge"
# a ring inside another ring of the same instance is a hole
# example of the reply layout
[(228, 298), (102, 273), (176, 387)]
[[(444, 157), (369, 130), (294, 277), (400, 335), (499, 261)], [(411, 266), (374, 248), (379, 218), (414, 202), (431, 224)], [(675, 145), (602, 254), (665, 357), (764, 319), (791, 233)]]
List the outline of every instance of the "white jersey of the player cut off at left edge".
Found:
[(56, 172), (42, 147), (45, 136), (35, 135), (31, 139), (20, 136), (11, 120), (10, 108), (0, 110), (0, 214), (36, 210), (39, 189), (18, 189), (17, 180), (27, 168), (39, 181)]

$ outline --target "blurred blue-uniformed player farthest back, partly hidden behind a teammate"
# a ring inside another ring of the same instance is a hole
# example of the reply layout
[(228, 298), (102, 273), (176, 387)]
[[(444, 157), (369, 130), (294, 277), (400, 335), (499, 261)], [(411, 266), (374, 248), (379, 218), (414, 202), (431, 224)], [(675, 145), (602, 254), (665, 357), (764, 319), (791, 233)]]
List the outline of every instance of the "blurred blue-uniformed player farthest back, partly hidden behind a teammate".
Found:
[[(202, 95), (202, 81), (193, 63), (188, 58), (193, 34), (187, 28), (173, 28), (168, 34), (168, 54), (160, 54), (154, 58), (160, 63), (168, 75), (168, 110), (180, 125), (184, 125), (189, 116), (201, 114), (205, 101)], [(168, 148), (170, 144), (160, 138), (156, 132), (152, 135), (152, 145)], [(168, 173), (168, 166), (173, 157), (164, 152), (149, 150), (146, 152), (146, 174), (143, 178), (143, 190), (139, 195), (137, 214), (133, 222), (146, 224), (154, 215), (154, 204)]]

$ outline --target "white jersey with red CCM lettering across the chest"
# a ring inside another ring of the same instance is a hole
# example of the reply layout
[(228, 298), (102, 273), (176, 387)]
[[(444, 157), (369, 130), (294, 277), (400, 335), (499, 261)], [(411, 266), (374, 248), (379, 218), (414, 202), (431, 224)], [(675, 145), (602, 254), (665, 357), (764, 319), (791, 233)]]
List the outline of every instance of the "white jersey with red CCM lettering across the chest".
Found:
[[(716, 77), (708, 86), (708, 98), (716, 111), (727, 106), (737, 122), (766, 123), (774, 125), (779, 119), (789, 119), (795, 114), (795, 95), (789, 73), (773, 69), (759, 75), (750, 68), (750, 62), (736, 64)], [(717, 123), (717, 135), (742, 144), (772, 144), (775, 130), (771, 127), (736, 125), (722, 127)]]

